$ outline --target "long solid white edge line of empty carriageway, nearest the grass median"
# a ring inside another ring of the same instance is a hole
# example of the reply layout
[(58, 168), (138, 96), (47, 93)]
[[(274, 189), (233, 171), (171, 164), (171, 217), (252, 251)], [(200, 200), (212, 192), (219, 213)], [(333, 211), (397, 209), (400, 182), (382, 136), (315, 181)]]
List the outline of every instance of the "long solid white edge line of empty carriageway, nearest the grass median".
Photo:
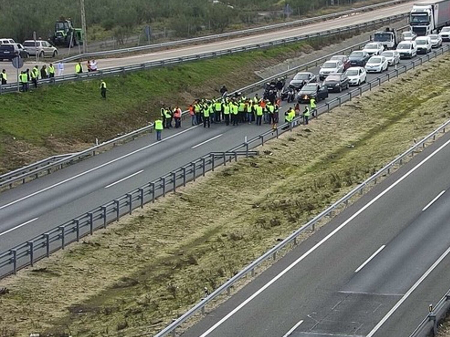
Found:
[(226, 320), (228, 320), (231, 316), (233, 316), (236, 312), (241, 310), (244, 306), (247, 305), (248, 302), (252, 301), (255, 297), (257, 297), (260, 293), (262, 293), (264, 290), (270, 287), (270, 285), (274, 284), (279, 278), (281, 278), (284, 274), (286, 274), (289, 270), (291, 270), (294, 266), (296, 266), (299, 262), (301, 262), (303, 259), (305, 259), (308, 255), (310, 255), (312, 252), (314, 252), (317, 248), (319, 248), (322, 244), (324, 244), (326, 241), (328, 241), (329, 238), (331, 238), (333, 235), (338, 233), (344, 226), (346, 226), (349, 222), (351, 222), (354, 218), (356, 218), (358, 215), (360, 215), (362, 212), (364, 212), (367, 208), (369, 208), (372, 204), (374, 204), (378, 199), (380, 199), (383, 195), (385, 195), (387, 192), (391, 191), (395, 186), (397, 186), (400, 182), (406, 179), (406, 177), (409, 177), (412, 173), (414, 173), (415, 170), (420, 168), (423, 164), (425, 164), (428, 160), (430, 160), (432, 157), (434, 157), (439, 151), (441, 151), (444, 147), (446, 147), (448, 144), (450, 144), (450, 139), (446, 141), (444, 144), (439, 146), (435, 151), (433, 151), (431, 154), (429, 154), (426, 158), (424, 158), (420, 163), (416, 164), (413, 168), (411, 168), (408, 172), (406, 172), (403, 176), (398, 178), (395, 182), (393, 182), (390, 186), (388, 186), (384, 191), (380, 192), (374, 199), (370, 200), (367, 204), (365, 204), (363, 207), (361, 207), (356, 213), (354, 213), (351, 217), (349, 217), (346, 221), (344, 221), (341, 225), (336, 227), (331, 233), (329, 233), (327, 236), (325, 236), (323, 239), (321, 239), (317, 244), (315, 244), (312, 248), (310, 248), (306, 253), (304, 253), (301, 257), (299, 257), (297, 260), (292, 262), (289, 266), (287, 266), (284, 270), (282, 270), (278, 275), (276, 275), (273, 279), (271, 279), (269, 282), (264, 284), (261, 288), (259, 288), (255, 293), (253, 293), (250, 297), (248, 297), (244, 302), (239, 304), (236, 308), (231, 310), (227, 315), (225, 315), (222, 319), (220, 319), (216, 324), (214, 324), (211, 328), (209, 328), (206, 332), (204, 332), (200, 337), (206, 337), (211, 332), (216, 330), (217, 327), (219, 327), (221, 324), (223, 324)]

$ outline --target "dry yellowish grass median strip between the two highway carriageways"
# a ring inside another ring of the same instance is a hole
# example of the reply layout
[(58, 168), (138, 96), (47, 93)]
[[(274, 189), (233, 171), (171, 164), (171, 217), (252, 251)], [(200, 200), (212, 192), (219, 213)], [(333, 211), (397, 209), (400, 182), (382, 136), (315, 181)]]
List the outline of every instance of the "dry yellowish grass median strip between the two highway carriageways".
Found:
[(0, 281), (2, 336), (156, 332), (447, 120), (448, 71), (439, 57)]

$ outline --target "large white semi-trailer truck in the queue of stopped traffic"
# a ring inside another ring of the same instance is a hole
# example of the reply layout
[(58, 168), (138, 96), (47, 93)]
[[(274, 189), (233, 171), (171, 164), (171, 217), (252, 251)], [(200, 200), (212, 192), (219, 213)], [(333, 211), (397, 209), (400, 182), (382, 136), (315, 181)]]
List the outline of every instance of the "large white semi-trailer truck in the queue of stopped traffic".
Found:
[(411, 30), (418, 36), (437, 33), (450, 24), (450, 0), (414, 4), (409, 21)]

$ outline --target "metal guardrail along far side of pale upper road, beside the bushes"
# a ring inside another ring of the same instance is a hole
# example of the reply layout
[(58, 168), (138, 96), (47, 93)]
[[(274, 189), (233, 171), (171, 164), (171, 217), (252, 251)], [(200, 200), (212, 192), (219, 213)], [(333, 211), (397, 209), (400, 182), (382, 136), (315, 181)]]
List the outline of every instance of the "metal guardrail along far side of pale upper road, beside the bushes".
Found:
[(208, 41), (208, 40), (224, 39), (224, 38), (237, 36), (237, 35), (247, 35), (247, 34), (252, 34), (252, 33), (257, 33), (257, 32), (272, 31), (272, 30), (279, 29), (279, 28), (302, 26), (302, 25), (309, 24), (312, 22), (325, 21), (325, 20), (329, 20), (332, 18), (338, 18), (338, 17), (342, 17), (344, 15), (349, 15), (349, 14), (353, 14), (353, 13), (371, 11), (374, 9), (383, 8), (383, 7), (391, 6), (394, 4), (401, 4), (404, 2), (408, 2), (408, 1), (410, 1), (410, 0), (393, 0), (393, 1), (382, 2), (380, 4), (372, 4), (372, 5), (364, 6), (364, 7), (360, 7), (360, 8), (347, 9), (347, 10), (337, 12), (337, 13), (320, 15), (320, 16), (317, 16), (314, 18), (299, 19), (299, 20), (294, 20), (294, 21), (289, 21), (289, 22), (277, 23), (277, 24), (273, 24), (273, 25), (266, 25), (266, 26), (261, 26), (261, 27), (243, 29), (240, 31), (231, 31), (231, 32), (227, 32), (227, 33), (206, 35), (206, 36), (194, 37), (194, 38), (190, 38), (190, 39), (162, 42), (162, 43), (157, 43), (157, 44), (149, 44), (149, 45), (144, 45), (144, 46), (139, 46), (139, 47), (106, 50), (103, 52), (81, 53), (78, 55), (70, 56), (68, 58), (63, 58), (61, 60), (61, 62), (70, 62), (70, 61), (75, 61), (75, 60), (79, 60), (79, 59), (83, 59), (83, 58), (93, 58), (93, 57), (104, 56), (104, 55), (132, 53), (132, 52), (137, 52), (137, 51), (142, 51), (142, 50), (160, 49), (160, 48), (166, 48), (166, 47), (179, 46), (179, 45), (183, 45), (183, 44), (193, 44), (193, 43), (203, 42), (203, 41)]

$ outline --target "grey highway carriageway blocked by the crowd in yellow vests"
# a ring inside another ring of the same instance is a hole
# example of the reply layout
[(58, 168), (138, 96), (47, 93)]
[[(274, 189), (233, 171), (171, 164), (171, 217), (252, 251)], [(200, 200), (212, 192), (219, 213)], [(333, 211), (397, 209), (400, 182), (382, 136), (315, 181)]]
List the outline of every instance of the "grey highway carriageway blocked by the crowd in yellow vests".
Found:
[[(401, 65), (410, 60), (401, 61)], [(311, 69), (317, 73), (318, 69)], [(369, 74), (368, 80), (380, 76)], [(262, 91), (259, 91), (261, 97)], [(330, 93), (329, 99), (337, 96)], [(253, 94), (247, 95), (252, 97)], [(322, 102), (322, 101), (321, 101)], [(283, 102), (280, 120), (288, 105)], [(314, 123), (314, 121), (312, 121)], [(269, 129), (269, 125), (238, 127), (211, 124), (139, 137), (63, 170), (0, 194), (0, 252), (40, 235), (120, 195), (157, 179), (211, 151), (227, 151)]]

